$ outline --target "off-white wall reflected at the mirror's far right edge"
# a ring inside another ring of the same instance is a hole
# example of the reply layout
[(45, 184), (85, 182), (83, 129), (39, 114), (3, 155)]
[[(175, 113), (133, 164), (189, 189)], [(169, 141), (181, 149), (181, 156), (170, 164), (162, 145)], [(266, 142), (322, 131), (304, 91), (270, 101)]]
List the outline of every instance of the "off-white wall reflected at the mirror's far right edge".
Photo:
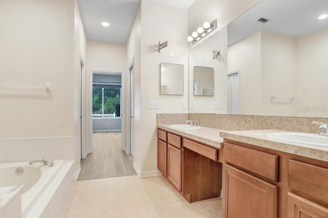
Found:
[(297, 46), (297, 115), (328, 117), (328, 28), (298, 38)]

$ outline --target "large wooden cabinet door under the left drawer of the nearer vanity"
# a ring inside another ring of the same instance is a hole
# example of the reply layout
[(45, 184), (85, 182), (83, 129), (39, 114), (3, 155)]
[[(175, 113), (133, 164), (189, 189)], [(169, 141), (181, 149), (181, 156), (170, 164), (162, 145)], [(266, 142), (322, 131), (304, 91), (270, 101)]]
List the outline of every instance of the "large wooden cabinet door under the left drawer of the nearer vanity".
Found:
[(278, 187), (223, 164), (224, 218), (277, 217)]

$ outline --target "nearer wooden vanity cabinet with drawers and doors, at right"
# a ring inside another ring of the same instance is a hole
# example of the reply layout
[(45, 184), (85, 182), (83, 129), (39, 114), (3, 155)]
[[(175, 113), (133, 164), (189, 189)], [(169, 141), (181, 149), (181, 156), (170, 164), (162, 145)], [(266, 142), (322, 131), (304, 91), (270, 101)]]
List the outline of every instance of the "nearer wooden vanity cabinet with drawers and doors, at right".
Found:
[(328, 162), (224, 139), (222, 217), (328, 217)]

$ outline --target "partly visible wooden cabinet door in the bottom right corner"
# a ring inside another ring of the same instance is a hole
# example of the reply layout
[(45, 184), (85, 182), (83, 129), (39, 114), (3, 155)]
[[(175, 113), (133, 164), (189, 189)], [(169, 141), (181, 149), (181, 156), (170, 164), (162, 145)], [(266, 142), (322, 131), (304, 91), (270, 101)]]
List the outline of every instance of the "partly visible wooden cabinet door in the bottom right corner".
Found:
[(328, 208), (288, 192), (288, 218), (328, 217)]

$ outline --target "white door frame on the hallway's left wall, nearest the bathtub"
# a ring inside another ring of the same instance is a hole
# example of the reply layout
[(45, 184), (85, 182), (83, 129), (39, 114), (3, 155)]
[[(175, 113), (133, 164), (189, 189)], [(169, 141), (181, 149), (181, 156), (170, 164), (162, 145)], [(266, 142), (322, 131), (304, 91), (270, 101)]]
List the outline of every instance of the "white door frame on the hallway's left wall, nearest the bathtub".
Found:
[(88, 152), (86, 151), (86, 64), (83, 57), (80, 54), (80, 65), (82, 66), (80, 77), (81, 77), (81, 129), (80, 129), (80, 138), (81, 138), (81, 159), (87, 157)]

